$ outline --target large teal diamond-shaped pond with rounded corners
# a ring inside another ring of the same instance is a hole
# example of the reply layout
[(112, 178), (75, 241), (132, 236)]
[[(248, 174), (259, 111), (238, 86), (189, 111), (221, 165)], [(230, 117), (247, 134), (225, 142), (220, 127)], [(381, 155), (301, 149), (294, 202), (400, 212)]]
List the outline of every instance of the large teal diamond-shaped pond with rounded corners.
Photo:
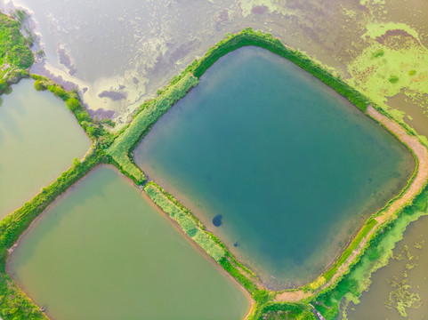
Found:
[(217, 61), (134, 158), (277, 289), (327, 268), (415, 166), (379, 124), (260, 48)]

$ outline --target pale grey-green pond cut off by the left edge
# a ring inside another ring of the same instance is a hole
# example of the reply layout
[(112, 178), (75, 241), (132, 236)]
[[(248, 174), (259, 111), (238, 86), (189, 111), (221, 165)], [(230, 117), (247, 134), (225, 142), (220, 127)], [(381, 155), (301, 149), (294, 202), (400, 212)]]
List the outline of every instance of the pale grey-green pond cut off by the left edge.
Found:
[(82, 157), (91, 140), (64, 102), (21, 80), (0, 107), (0, 219)]

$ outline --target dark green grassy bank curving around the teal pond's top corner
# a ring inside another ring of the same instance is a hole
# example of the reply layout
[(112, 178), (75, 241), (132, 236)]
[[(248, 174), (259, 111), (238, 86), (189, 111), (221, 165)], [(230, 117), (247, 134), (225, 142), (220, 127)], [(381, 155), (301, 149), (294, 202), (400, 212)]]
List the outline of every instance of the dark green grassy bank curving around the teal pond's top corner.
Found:
[(281, 57), (294, 62), (297, 66), (316, 76), (335, 89), (336, 92), (348, 98), (352, 104), (359, 109), (365, 111), (370, 104), (370, 100), (363, 94), (346, 84), (340, 77), (333, 76), (328, 70), (322, 68), (319, 64), (315, 63), (303, 53), (294, 51), (282, 44), (279, 39), (271, 36), (270, 34), (263, 34), (262, 32), (255, 32), (252, 28), (246, 28), (236, 35), (230, 35), (222, 40), (214, 47), (210, 48), (206, 55), (199, 61), (198, 66), (194, 69), (194, 76), (202, 76), (207, 68), (210, 68), (216, 60), (219, 60), (225, 54), (232, 52), (240, 47), (254, 45), (270, 52), (276, 53)]

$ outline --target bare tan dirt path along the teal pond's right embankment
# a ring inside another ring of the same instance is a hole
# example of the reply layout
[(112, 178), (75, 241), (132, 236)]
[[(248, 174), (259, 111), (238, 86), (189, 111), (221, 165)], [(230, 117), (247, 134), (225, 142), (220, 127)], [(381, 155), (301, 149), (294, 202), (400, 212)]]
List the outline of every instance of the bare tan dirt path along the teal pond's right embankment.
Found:
[[(406, 132), (400, 126), (400, 124), (397, 124), (395, 121), (388, 118), (387, 116), (380, 114), (372, 106), (367, 107), (367, 115), (374, 118), (377, 122), (383, 124), (385, 128), (395, 134), (395, 136), (401, 142), (408, 145), (408, 148), (413, 151), (418, 162), (416, 176), (411, 182), (408, 189), (405, 191), (405, 193), (401, 195), (400, 198), (396, 199), (392, 204), (390, 204), (390, 206), (380, 216), (375, 218), (377, 221), (376, 225), (367, 233), (367, 236), (362, 239), (358, 249), (352, 252), (351, 256), (342, 264), (342, 266), (338, 268), (337, 272), (335, 273), (335, 276), (333, 276), (330, 281), (327, 282), (327, 284), (323, 284), (320, 290), (323, 290), (329, 285), (334, 284), (335, 280), (345, 273), (345, 271), (351, 265), (351, 262), (359, 255), (363, 247), (367, 244), (367, 240), (373, 234), (373, 232), (375, 232), (376, 228), (383, 224), (385, 221), (387, 221), (394, 212), (397, 212), (406, 204), (408, 204), (408, 202), (410, 202), (419, 193), (421, 188), (424, 187), (425, 181), (428, 180), (428, 152), (424, 145), (419, 140), (417, 140), (415, 136), (409, 135), (408, 132)], [(304, 298), (311, 297), (311, 295), (313, 294), (310, 292), (303, 291), (282, 292), (275, 297), (275, 301), (298, 301)]]

